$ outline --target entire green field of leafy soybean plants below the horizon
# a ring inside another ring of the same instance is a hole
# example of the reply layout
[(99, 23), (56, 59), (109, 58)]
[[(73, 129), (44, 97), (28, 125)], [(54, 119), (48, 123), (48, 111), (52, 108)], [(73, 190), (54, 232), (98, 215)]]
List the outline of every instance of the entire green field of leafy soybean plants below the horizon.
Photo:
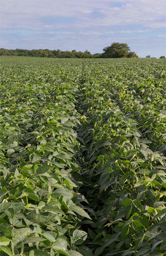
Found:
[(0, 255), (166, 255), (166, 61), (0, 60)]

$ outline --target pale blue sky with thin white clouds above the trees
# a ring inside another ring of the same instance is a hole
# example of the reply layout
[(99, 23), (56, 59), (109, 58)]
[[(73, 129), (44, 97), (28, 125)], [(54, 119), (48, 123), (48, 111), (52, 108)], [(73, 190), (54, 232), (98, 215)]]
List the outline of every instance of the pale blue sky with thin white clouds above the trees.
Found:
[(166, 56), (166, 0), (0, 0), (0, 47)]

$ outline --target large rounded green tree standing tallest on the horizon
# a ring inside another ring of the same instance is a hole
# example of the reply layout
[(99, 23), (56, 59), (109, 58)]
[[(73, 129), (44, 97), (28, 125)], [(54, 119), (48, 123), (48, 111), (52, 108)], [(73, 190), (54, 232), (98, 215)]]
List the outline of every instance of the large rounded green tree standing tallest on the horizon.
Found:
[(111, 46), (105, 47), (103, 51), (102, 57), (105, 58), (127, 58), (135, 56), (135, 52), (130, 52), (130, 47), (124, 43), (112, 43)]

